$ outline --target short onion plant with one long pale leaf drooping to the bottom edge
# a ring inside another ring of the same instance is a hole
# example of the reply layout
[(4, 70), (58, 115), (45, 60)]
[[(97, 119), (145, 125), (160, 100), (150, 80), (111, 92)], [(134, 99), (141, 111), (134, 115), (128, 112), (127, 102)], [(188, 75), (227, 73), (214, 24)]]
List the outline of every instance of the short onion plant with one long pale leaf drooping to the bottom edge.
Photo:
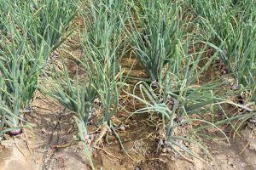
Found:
[[(61, 71), (55, 69), (53, 64), (50, 77), (47, 76), (44, 81), (49, 82), (50, 86), (42, 85), (41, 91), (56, 99), (67, 110), (73, 113), (73, 118), (79, 128), (79, 139), (84, 145), (85, 154), (90, 161), (90, 166), (94, 169), (90, 152), (85, 143), (87, 133), (87, 123), (90, 118), (93, 102), (96, 99), (96, 88), (94, 84), (100, 81), (99, 74), (95, 74), (95, 70), (90, 69), (87, 62), (77, 59), (76, 75), (70, 75), (67, 67), (62, 60), (63, 68)], [(82, 74), (82, 77), (80, 76)], [(44, 82), (43, 81), (43, 82)]]

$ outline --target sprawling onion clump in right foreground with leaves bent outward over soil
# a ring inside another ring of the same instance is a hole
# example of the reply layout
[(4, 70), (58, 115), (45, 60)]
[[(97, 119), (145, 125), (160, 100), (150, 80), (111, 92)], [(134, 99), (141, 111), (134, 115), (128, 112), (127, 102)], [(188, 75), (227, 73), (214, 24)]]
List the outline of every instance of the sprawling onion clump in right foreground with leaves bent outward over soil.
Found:
[[(172, 65), (168, 65), (167, 72), (162, 72), (164, 78), (159, 89), (148, 85), (146, 82), (138, 82), (136, 88), (140, 89), (142, 97), (130, 94), (134, 99), (142, 102), (145, 107), (133, 114), (147, 113), (159, 114), (163, 122), (163, 136), (160, 139), (162, 147), (170, 147), (178, 155), (187, 161), (193, 162), (193, 157), (204, 159), (197, 155), (185, 143), (195, 144), (203, 150), (207, 156), (211, 156), (207, 147), (201, 142), (202, 129), (214, 127), (228, 140), (226, 134), (220, 130), (219, 124), (231, 123), (245, 116), (227, 116), (224, 120), (215, 119), (215, 111), (221, 108), (221, 104), (228, 103), (236, 105), (234, 102), (225, 99), (222, 95), (222, 86), (226, 82), (207, 82), (199, 84), (197, 80), (204, 71), (207, 70), (212, 61), (218, 56), (214, 53), (210, 59), (201, 65), (202, 60), (206, 60), (204, 53), (211, 44), (198, 44), (194, 36), (189, 36), (178, 42), (175, 60)], [(191, 48), (194, 52), (191, 53)], [(129, 94), (129, 93), (127, 93)], [(237, 105), (236, 105), (237, 106)], [(241, 106), (241, 105), (240, 105)], [(244, 107), (248, 111), (247, 107)], [(204, 118), (209, 113), (212, 118)], [(193, 116), (192, 116), (193, 115)], [(193, 122), (199, 122), (201, 126), (194, 126)], [(186, 131), (179, 131), (184, 126), (191, 126)], [(182, 133), (183, 132), (183, 133)]]

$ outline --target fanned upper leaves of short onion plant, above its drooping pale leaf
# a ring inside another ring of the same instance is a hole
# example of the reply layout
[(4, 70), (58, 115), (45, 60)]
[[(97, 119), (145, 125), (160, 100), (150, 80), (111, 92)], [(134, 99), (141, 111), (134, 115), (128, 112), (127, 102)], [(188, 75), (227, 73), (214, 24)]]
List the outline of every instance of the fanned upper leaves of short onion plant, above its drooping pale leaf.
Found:
[[(51, 71), (53, 72), (50, 74), (52, 78), (47, 77), (46, 79), (47, 82), (50, 82), (50, 86), (43, 87), (43, 91), (45, 88), (49, 96), (57, 99), (61, 105), (72, 111), (80, 122), (86, 124), (90, 116), (92, 103), (96, 99), (96, 90), (93, 87), (95, 77), (90, 74), (90, 67), (84, 64), (82, 67), (77, 66), (77, 73), (73, 78), (72, 75), (68, 74), (64, 61), (62, 61), (62, 64), (62, 71), (57, 71), (55, 65), (52, 66)], [(79, 77), (82, 72), (86, 72), (87, 76)]]

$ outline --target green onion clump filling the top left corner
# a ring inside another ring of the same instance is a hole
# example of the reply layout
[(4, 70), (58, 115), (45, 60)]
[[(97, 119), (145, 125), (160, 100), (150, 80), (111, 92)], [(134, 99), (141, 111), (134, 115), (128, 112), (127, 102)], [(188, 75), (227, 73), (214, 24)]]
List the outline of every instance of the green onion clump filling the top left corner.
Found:
[(42, 50), (43, 44), (45, 53), (58, 48), (72, 32), (71, 21), (77, 13), (73, 0), (8, 0), (1, 4), (3, 14), (11, 13), (18, 26), (26, 24), (34, 50)]

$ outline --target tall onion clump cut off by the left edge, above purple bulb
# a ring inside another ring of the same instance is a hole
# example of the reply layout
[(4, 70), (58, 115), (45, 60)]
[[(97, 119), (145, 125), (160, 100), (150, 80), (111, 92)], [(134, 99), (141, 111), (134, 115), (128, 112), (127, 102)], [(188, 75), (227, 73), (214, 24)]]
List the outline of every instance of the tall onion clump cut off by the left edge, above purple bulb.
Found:
[(42, 60), (27, 42), (26, 31), (21, 35), (15, 23), (5, 24), (8, 33), (0, 39), (0, 135), (9, 131), (15, 135), (21, 133), (20, 113), (25, 111), (37, 88), (38, 65)]

